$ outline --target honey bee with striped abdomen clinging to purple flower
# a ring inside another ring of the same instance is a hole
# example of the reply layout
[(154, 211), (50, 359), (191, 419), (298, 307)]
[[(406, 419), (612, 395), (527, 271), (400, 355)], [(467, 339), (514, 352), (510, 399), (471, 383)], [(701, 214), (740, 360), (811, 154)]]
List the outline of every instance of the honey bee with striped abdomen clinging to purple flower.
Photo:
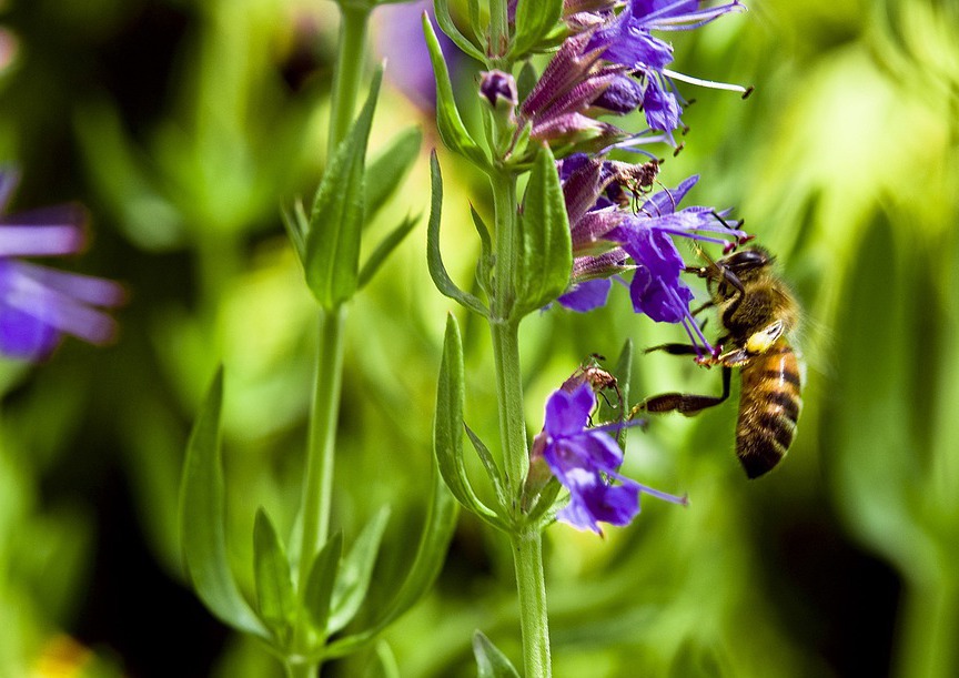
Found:
[[(723, 367), (723, 394), (666, 393), (634, 408), (634, 413), (675, 411), (692, 416), (729, 397), (733, 368), (738, 367), (741, 388), (736, 455), (750, 478), (769, 472), (786, 456), (802, 407), (802, 366), (788, 340), (799, 322), (799, 305), (773, 271), (773, 261), (766, 250), (753, 246), (705, 266), (686, 269), (706, 280), (710, 295), (696, 313), (715, 307), (724, 330), (717, 341), (721, 353), (698, 358), (700, 364)], [(664, 344), (648, 351), (698, 353), (685, 344)]]

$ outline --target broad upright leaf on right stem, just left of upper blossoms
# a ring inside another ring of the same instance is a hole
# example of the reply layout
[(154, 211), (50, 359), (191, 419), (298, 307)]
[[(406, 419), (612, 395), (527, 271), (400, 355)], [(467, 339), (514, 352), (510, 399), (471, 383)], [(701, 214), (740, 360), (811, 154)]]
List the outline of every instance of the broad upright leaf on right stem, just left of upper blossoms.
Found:
[(563, 186), (547, 145), (539, 146), (518, 221), (516, 317), (542, 308), (563, 294), (573, 270), (573, 244)]

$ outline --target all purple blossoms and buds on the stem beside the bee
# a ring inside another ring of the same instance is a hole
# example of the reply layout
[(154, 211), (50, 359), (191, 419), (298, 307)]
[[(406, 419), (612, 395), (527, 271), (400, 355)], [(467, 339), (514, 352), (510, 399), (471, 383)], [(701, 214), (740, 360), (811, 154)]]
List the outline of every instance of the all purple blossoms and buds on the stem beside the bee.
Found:
[[(515, 109), (515, 124), (531, 140), (549, 143), (559, 158), (573, 245), (571, 285), (559, 304), (578, 312), (602, 306), (617, 281), (628, 285), (635, 312), (682, 324), (700, 355), (716, 348), (690, 312), (694, 295), (682, 279), (687, 265), (675, 239), (720, 244), (729, 251), (749, 236), (739, 222), (726, 219), (728, 210), (679, 208), (698, 176), (654, 192), (656, 160), (626, 163), (610, 160), (608, 152), (653, 142), (677, 145), (673, 133), (684, 128), (686, 102), (676, 81), (748, 94), (738, 85), (670, 70), (673, 48), (653, 34), (695, 29), (743, 9), (739, 0), (711, 8), (701, 8), (699, 0), (566, 0), (569, 37)], [(504, 82), (507, 78), (489, 73), (484, 79), (484, 94), (494, 108), (494, 91), (501, 99), (515, 100), (509, 97), (515, 90)], [(647, 125), (635, 133), (599, 119), (634, 111), (643, 111)], [(600, 522), (629, 523), (639, 510), (640, 493), (685, 503), (618, 474), (623, 452), (609, 432), (624, 424), (588, 426), (596, 404), (594, 386), (571, 380), (552, 394), (543, 432), (533, 443), (527, 484), (535, 488), (555, 476), (571, 497), (557, 517), (596, 533)]]

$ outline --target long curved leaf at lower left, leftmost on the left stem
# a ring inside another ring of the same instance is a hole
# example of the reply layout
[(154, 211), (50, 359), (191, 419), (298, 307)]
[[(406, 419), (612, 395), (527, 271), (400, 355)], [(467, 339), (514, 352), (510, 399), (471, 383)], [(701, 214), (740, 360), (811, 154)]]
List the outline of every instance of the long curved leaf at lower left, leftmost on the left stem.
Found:
[(180, 485), (183, 561), (203, 604), (229, 626), (269, 639), (236, 586), (226, 556), (225, 489), (220, 459), (223, 372), (216, 373), (186, 444)]

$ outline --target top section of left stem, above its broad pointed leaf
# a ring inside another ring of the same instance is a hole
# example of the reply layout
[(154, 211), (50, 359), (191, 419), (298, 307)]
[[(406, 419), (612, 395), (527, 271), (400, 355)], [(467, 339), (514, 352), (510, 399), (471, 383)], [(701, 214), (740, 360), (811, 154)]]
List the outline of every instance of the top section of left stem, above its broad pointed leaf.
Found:
[(342, 7), (340, 20), (340, 44), (336, 50), (336, 70), (333, 74), (333, 100), (330, 111), (330, 145), (332, 158), (336, 146), (346, 138), (353, 124), (353, 112), (360, 92), (360, 78), (366, 54), (366, 26), (370, 10)]

